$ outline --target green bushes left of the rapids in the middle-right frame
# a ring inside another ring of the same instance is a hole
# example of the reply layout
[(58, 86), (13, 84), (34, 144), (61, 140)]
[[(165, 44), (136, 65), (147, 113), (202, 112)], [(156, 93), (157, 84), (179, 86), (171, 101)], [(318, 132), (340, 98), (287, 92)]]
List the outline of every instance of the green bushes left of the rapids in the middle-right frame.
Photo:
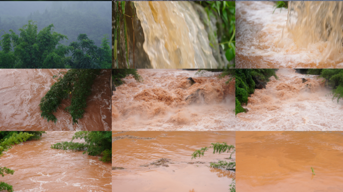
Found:
[(235, 69), (236, 77), (236, 114), (244, 112), (242, 104), (248, 103), (248, 97), (255, 91), (255, 81), (253, 78), (268, 82), (269, 77), (278, 79), (275, 69)]

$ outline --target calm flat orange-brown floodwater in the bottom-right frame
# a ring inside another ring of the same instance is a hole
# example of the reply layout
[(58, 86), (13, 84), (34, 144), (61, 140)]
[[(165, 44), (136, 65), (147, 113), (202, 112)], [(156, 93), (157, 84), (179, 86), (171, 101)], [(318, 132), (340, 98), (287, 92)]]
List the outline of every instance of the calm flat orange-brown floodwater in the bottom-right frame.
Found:
[(236, 135), (237, 191), (342, 191), (343, 132), (237, 131)]

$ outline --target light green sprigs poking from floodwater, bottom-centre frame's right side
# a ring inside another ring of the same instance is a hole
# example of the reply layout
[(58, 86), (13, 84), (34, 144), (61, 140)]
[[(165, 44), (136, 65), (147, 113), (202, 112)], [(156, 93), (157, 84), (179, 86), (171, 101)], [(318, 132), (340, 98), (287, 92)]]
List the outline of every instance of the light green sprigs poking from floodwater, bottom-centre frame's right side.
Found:
[[(196, 150), (192, 154), (192, 159), (197, 157), (202, 157), (205, 154), (205, 151), (209, 150), (209, 148), (213, 148), (214, 153), (223, 153), (223, 152), (231, 152), (230, 157), (233, 153), (236, 152), (236, 148), (233, 144), (227, 144), (226, 142), (223, 143), (211, 143), (212, 146), (205, 146), (199, 150)], [(214, 168), (225, 168), (227, 170), (236, 170), (236, 162), (227, 162), (226, 160), (220, 160), (216, 162), (210, 162), (210, 166)], [(230, 192), (236, 192), (236, 183), (235, 179), (232, 179), (232, 183), (230, 184)]]

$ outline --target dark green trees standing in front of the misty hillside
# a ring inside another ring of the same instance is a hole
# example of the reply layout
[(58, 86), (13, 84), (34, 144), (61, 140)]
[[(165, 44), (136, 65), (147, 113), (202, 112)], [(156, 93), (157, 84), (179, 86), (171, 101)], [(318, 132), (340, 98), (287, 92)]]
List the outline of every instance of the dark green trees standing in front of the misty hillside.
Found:
[[(97, 47), (87, 34), (79, 34), (69, 46), (60, 43), (66, 35), (53, 31), (53, 24), (38, 32), (36, 21), (2, 35), (0, 68), (110, 68), (111, 50), (104, 36)], [(13, 47), (12, 47), (13, 45)], [(12, 51), (14, 50), (14, 51)], [(72, 56), (67, 56), (71, 52)]]

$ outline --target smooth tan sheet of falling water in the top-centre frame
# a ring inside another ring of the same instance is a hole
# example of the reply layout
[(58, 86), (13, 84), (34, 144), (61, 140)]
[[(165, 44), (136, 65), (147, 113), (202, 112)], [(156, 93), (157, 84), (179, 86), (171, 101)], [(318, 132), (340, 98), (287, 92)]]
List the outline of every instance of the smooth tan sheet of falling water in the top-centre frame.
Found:
[[(217, 68), (208, 33), (188, 1), (134, 1), (152, 68)], [(142, 50), (141, 50), (142, 51)]]

